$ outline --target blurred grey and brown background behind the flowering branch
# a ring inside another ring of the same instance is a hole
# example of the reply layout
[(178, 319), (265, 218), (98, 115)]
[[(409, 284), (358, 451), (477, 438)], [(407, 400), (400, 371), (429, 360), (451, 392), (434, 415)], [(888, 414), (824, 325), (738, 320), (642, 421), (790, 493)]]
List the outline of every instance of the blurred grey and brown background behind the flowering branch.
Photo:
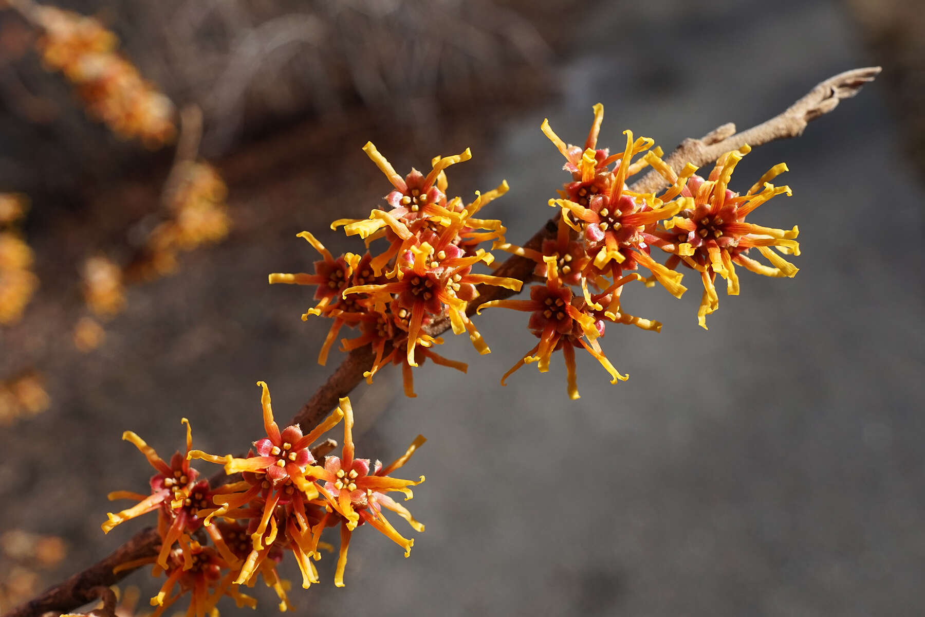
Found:
[[(799, 225), (800, 272), (743, 274), (741, 296), (721, 289), (709, 332), (688, 276), (681, 301), (626, 291), (629, 313), (664, 328), (611, 326), (602, 345), (630, 379), (611, 386), (580, 355), (579, 401), (566, 396), (561, 357), (548, 374), (531, 365), (499, 386), (535, 344), (524, 314), (499, 310), (477, 321), (490, 355), (465, 337), (439, 350), (470, 363), (467, 376), (427, 364), (413, 400), (392, 370), (356, 389), (358, 453), (391, 460), (417, 433), (429, 439), (406, 467), (427, 476), (407, 504), (427, 530), (407, 560), (373, 530), (355, 535), (347, 587), (331, 584), (330, 557), (322, 585), (292, 598), (300, 614), (383, 617), (925, 612), (920, 3), (68, 6), (108, 16), (143, 74), (180, 105), (203, 106), (203, 154), (228, 180), (235, 229), (185, 256), (178, 275), (132, 287), (105, 345), (74, 351), (75, 260), (120, 250), (156, 207), (169, 153), (85, 120), (34, 54), (6, 61), (0, 179), (33, 198), (43, 287), (22, 324), (0, 331), (0, 367), (35, 366), (53, 404), (0, 428), (0, 520), (67, 538), (71, 557), (48, 583), (143, 524), (99, 529), (106, 492), (141, 490), (151, 473), (123, 430), (167, 455), (185, 415), (198, 447), (240, 450), (261, 431), (257, 379), (286, 418), (339, 362), (314, 364), (328, 324), (300, 320), (310, 291), (270, 288), (265, 275), (310, 267), (302, 229), (359, 250), (327, 222), (364, 216), (388, 191), (360, 150), (367, 139), (400, 171), (472, 146), (450, 190), (471, 196), (508, 179), (491, 214), (524, 241), (566, 179), (538, 130), (544, 117), (581, 142), (601, 102), (600, 143), (619, 147), (632, 129), (669, 151), (724, 122), (752, 126), (834, 73), (882, 64), (880, 80), (802, 138), (739, 166), (738, 190), (790, 167), (781, 181), (794, 196), (754, 217)], [(55, 113), (25, 117), (12, 80)]]

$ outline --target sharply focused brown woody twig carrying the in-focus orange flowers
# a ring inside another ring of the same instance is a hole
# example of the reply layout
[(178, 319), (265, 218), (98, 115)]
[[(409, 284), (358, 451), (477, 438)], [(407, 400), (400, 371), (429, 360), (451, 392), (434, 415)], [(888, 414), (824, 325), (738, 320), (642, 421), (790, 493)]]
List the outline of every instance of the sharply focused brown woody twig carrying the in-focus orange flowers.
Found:
[[(759, 146), (779, 139), (798, 137), (811, 120), (832, 111), (842, 99), (857, 94), (861, 87), (873, 80), (880, 71), (880, 67), (845, 71), (822, 81), (779, 116), (772, 117), (740, 133), (735, 132), (734, 124), (724, 124), (698, 140), (685, 140), (665, 161), (675, 171), (681, 171), (688, 162), (697, 166), (707, 165), (720, 155), (746, 143)], [(659, 191), (666, 185), (665, 180), (657, 172), (652, 171), (636, 181), (630, 189), (636, 192), (652, 192)], [(556, 227), (556, 219), (550, 219), (524, 246), (539, 250), (544, 240), (555, 237)], [(499, 265), (493, 274), (499, 277), (518, 278), (526, 283), (532, 278), (535, 266), (536, 264), (530, 259), (512, 255)], [(472, 315), (475, 308), (483, 302), (507, 298), (515, 293), (515, 291), (504, 288), (490, 287), (469, 303), (467, 313)], [(444, 317), (427, 327), (426, 332), (436, 337), (448, 329), (450, 329), (450, 321)], [(364, 372), (370, 370), (373, 361), (374, 354), (368, 346), (350, 352), (334, 373), (327, 378), (327, 381), (315, 391), (314, 396), (302, 406), (299, 413), (292, 419), (292, 424), (317, 425), (327, 413), (337, 406), (341, 397), (347, 396), (364, 380)], [(325, 442), (322, 446), (327, 448), (330, 444)], [(153, 529), (145, 529), (131, 537), (129, 542), (105, 560), (71, 576), (64, 583), (48, 589), (38, 598), (7, 612), (4, 617), (38, 617), (46, 611), (68, 611), (85, 604), (96, 597), (91, 591), (93, 587), (113, 585), (129, 574), (128, 570), (112, 574), (115, 566), (156, 554), (159, 542), (160, 538)]]

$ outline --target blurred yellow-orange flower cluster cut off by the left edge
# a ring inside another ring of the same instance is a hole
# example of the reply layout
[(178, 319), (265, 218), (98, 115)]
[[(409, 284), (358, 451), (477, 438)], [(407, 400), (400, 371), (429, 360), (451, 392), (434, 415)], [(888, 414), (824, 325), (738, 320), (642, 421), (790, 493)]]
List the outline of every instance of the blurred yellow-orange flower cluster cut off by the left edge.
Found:
[(23, 196), (0, 193), (0, 326), (19, 321), (39, 286), (32, 250), (18, 228), (25, 211)]

